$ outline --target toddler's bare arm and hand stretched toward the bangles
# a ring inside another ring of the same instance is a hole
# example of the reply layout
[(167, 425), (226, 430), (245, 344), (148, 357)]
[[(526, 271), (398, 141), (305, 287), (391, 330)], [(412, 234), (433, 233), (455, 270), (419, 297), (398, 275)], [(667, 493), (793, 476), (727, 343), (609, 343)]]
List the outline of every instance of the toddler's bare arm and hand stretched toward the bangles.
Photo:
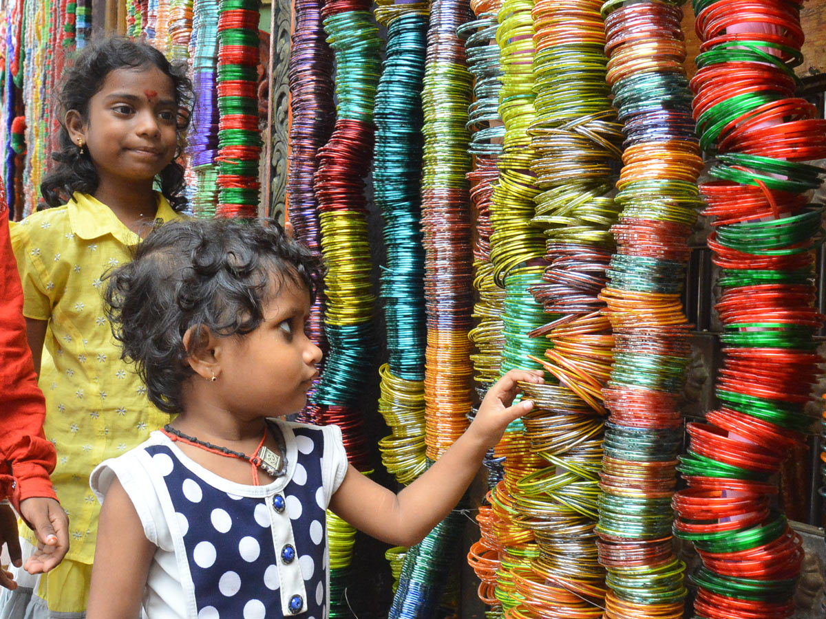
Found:
[[(505, 428), (528, 413), (533, 403), (513, 404), (517, 381), (542, 383), (542, 372), (509, 371), (488, 390), (470, 428), (439, 461), (399, 494), (349, 467), (330, 501), (330, 509), (379, 540), (412, 546), (436, 526), (462, 498), (488, 449)], [(513, 404), (513, 405), (511, 405)]]

